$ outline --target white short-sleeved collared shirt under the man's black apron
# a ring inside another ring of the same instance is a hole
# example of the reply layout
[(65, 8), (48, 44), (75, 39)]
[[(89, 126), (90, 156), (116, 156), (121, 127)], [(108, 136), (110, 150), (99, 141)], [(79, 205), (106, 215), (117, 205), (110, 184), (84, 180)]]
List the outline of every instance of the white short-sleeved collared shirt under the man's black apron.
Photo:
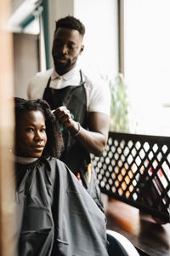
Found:
[[(51, 77), (49, 87), (54, 89), (62, 89), (68, 85), (79, 85), (81, 80), (79, 70), (80, 68), (76, 66), (62, 76), (59, 76), (54, 68), (37, 73), (28, 85), (28, 98), (42, 98), (49, 77)], [(111, 93), (109, 86), (102, 80), (93, 81), (92, 79), (89, 79), (83, 72), (82, 80), (85, 81), (84, 87), (87, 94), (87, 111), (110, 114)]]

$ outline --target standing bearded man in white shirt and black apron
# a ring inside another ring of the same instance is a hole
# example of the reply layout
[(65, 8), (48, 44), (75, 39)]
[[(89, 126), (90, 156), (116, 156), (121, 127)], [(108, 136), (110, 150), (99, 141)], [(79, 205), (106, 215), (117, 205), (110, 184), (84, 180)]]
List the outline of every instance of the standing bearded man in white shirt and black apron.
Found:
[(105, 149), (110, 119), (110, 92), (95, 84), (77, 65), (82, 54), (85, 27), (75, 17), (56, 22), (52, 55), (54, 69), (37, 73), (28, 87), (28, 98), (43, 98), (55, 109), (65, 141), (61, 160), (78, 177), (102, 207), (90, 153)]

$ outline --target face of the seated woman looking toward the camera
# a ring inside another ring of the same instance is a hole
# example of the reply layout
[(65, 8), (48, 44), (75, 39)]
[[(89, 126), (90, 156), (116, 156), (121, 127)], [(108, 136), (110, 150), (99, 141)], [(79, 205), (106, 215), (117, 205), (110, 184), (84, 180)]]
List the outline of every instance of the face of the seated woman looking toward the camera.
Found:
[(16, 154), (39, 158), (47, 143), (45, 119), (41, 111), (24, 113), (16, 124)]

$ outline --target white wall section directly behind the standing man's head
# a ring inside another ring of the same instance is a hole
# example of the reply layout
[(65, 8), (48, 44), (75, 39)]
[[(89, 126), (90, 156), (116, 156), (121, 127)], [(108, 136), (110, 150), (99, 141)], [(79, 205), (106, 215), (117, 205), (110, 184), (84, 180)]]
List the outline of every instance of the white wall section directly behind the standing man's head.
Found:
[(80, 57), (82, 67), (88, 73), (115, 76), (118, 70), (117, 0), (49, 0), (48, 11), (50, 49), (54, 21), (74, 15), (86, 26), (85, 49)]

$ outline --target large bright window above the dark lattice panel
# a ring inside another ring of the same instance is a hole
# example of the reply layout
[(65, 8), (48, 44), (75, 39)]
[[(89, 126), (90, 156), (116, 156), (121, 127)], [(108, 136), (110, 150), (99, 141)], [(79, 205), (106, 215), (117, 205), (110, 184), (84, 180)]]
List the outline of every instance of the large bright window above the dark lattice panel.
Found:
[(130, 131), (170, 134), (170, 1), (124, 1)]

